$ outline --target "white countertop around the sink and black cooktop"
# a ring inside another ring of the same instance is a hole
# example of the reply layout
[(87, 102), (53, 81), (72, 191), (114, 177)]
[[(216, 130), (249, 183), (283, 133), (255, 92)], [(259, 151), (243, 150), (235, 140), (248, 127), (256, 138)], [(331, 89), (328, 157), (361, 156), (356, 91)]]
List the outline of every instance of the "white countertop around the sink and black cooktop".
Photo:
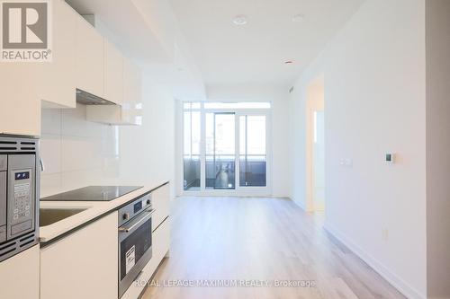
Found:
[(100, 215), (116, 210), (118, 207), (130, 202), (132, 199), (138, 198), (142, 194), (157, 189), (164, 184), (166, 184), (166, 181), (147, 185), (111, 201), (40, 201), (41, 208), (87, 208), (85, 211), (82, 211), (76, 215), (71, 215), (54, 224), (40, 227), (40, 242), (49, 242), (50, 240), (74, 230), (76, 227), (81, 226)]

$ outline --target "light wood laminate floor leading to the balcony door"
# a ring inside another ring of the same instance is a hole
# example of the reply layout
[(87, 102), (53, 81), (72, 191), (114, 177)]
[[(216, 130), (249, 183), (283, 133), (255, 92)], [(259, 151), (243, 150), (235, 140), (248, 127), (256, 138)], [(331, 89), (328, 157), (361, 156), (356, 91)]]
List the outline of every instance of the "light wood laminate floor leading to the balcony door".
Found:
[[(290, 199), (176, 198), (170, 258), (142, 298), (405, 298), (322, 223), (323, 215), (307, 214)], [(199, 287), (197, 279), (315, 286)], [(181, 283), (195, 286), (174, 286)]]

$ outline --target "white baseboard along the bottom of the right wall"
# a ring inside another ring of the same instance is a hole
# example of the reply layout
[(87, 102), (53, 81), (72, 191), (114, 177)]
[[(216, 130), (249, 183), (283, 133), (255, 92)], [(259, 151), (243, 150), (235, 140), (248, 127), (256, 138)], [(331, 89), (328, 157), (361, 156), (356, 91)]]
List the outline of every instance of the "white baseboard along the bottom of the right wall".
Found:
[(401, 294), (409, 299), (427, 299), (426, 295), (420, 294), (418, 290), (406, 283), (401, 277), (394, 274), (390, 269), (386, 268), (383, 263), (375, 259), (372, 255), (365, 252), (355, 242), (347, 238), (344, 233), (341, 233), (333, 227), (332, 224), (326, 222), (324, 228), (328, 233), (331, 233), (339, 242), (342, 242), (353, 251), (360, 259), (363, 259), (367, 265), (374, 268), (374, 270), (386, 279), (392, 286), (394, 286)]

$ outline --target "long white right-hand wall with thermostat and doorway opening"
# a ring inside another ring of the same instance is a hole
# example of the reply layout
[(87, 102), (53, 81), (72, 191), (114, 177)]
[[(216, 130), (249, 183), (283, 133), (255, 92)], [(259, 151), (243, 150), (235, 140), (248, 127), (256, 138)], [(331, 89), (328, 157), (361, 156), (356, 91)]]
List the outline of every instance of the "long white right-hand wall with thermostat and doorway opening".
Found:
[[(306, 91), (320, 75), (326, 227), (405, 295), (425, 298), (425, 0), (367, 0), (295, 83), (292, 197), (303, 207)], [(383, 162), (389, 152), (397, 163)]]

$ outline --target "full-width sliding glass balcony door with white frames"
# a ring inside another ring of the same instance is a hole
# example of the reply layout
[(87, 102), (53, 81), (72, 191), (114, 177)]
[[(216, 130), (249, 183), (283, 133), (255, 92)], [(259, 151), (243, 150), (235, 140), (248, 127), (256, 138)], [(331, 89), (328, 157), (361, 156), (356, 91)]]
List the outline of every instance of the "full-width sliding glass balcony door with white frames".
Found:
[(184, 103), (184, 190), (268, 192), (270, 110), (231, 104), (205, 103), (187, 111)]

